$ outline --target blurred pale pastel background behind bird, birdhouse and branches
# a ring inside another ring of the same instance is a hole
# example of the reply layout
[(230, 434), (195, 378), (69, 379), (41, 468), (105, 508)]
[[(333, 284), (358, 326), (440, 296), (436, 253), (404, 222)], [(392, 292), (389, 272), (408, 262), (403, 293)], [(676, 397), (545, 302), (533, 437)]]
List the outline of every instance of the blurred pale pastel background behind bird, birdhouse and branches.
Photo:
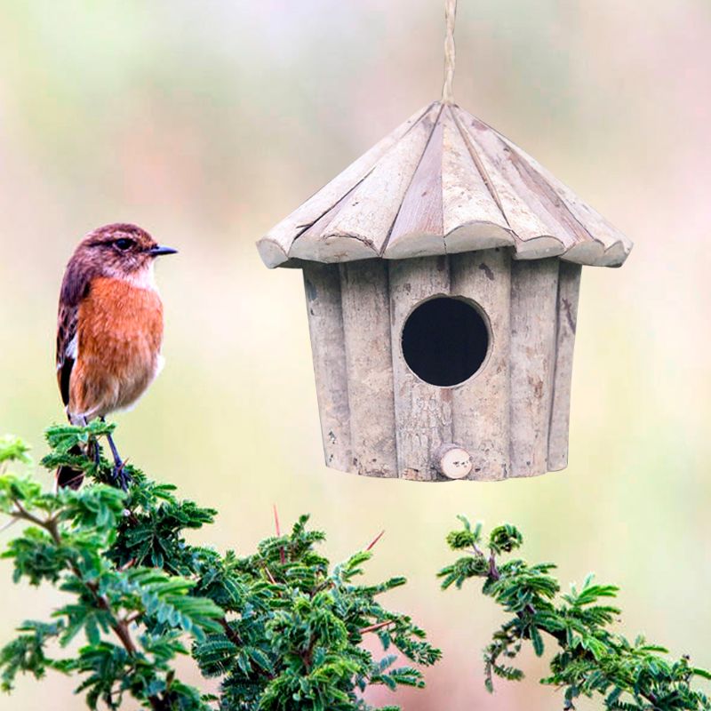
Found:
[[(526, 682), (483, 691), (501, 615), (478, 587), (441, 593), (435, 579), (459, 513), (517, 523), (524, 555), (560, 563), (563, 581), (618, 583), (623, 632), (711, 667), (711, 4), (460, 0), (457, 50), (458, 103), (635, 240), (621, 270), (584, 270), (566, 471), (438, 486), (324, 467), (301, 274), (268, 271), (254, 248), (439, 97), (439, 0), (4, 0), (0, 432), (42, 455), (43, 428), (63, 418), (64, 265), (90, 229), (136, 222), (180, 256), (158, 267), (167, 365), (118, 417), (119, 447), (220, 509), (196, 537), (216, 547), (251, 551), (273, 502), (284, 524), (312, 514), (336, 560), (386, 530), (369, 578), (410, 579), (387, 602), (444, 660), (425, 691), (374, 703), (562, 705), (532, 655)], [(0, 597), (3, 643), (60, 602), (13, 586), (8, 562)], [(72, 688), (22, 679), (0, 707), (74, 710)]]

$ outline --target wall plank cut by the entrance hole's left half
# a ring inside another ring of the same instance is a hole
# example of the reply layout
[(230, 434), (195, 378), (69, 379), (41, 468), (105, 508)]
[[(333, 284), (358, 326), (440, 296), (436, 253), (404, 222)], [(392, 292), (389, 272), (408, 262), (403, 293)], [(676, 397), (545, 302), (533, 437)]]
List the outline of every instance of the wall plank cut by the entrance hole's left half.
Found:
[(421, 300), (450, 291), (446, 257), (389, 262), (395, 431), (397, 465), (405, 479), (438, 478), (432, 453), (451, 439), (451, 389), (420, 380), (407, 366), (402, 351), (403, 325)]

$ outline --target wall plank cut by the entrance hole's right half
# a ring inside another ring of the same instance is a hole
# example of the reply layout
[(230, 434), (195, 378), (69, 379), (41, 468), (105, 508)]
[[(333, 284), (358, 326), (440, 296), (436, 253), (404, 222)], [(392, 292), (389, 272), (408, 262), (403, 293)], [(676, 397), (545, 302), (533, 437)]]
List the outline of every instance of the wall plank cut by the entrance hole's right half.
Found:
[(505, 479), (509, 471), (511, 257), (507, 250), (451, 256), (451, 295), (474, 301), (489, 322), (489, 354), (451, 392), (453, 441), (472, 457), (469, 479)]

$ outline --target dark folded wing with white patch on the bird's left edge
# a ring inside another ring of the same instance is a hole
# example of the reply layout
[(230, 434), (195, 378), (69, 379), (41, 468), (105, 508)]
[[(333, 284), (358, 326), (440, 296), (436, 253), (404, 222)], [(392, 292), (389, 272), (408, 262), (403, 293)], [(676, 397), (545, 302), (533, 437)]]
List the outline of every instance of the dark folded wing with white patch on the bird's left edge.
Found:
[(69, 403), (69, 379), (79, 354), (79, 304), (88, 296), (91, 269), (83, 268), (75, 260), (69, 262), (60, 291), (57, 316), (57, 383), (62, 402)]

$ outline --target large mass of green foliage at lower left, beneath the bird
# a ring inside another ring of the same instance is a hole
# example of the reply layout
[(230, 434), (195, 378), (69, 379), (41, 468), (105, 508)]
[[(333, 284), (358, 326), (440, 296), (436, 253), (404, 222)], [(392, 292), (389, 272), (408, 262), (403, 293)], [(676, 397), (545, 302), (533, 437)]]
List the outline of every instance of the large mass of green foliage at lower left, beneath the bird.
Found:
[[(68, 595), (51, 621), (24, 622), (0, 650), (5, 691), (19, 674), (54, 670), (79, 678), (92, 709), (117, 709), (130, 697), (154, 711), (365, 711), (369, 685), (424, 685), (417, 667), (440, 652), (408, 616), (379, 603), (404, 579), (356, 582), (370, 551), (331, 567), (316, 550), (324, 534), (309, 530), (306, 516), (253, 555), (192, 546), (185, 531), (212, 523), (215, 511), (130, 465), (132, 485), (120, 491), (108, 485), (108, 460), (76, 453), (112, 430), (96, 421), (47, 431), (43, 466), (82, 469), (78, 491), (44, 491), (0, 469), (0, 514), (28, 524), (2, 554), (13, 578)], [(28, 464), (27, 451), (17, 439), (0, 440), (0, 467)], [(363, 649), (369, 634), (381, 659)], [(70, 654), (74, 640), (79, 650)], [(175, 660), (186, 654), (220, 680), (219, 696), (176, 676)]]

